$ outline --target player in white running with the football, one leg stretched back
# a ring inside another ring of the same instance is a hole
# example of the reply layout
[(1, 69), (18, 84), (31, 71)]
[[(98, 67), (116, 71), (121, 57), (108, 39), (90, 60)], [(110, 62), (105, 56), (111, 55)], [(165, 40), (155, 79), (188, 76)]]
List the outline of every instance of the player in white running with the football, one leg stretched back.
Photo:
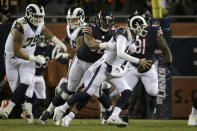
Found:
[[(129, 46), (134, 45), (136, 34), (146, 35), (146, 21), (141, 16), (135, 16), (129, 19), (127, 27), (120, 27), (114, 33), (110, 42), (115, 47), (111, 50), (104, 50), (104, 55), (101, 59), (97, 60), (93, 65), (89, 67), (89, 71), (94, 72), (90, 80), (85, 83), (85, 90), (81, 93), (73, 95), (64, 105), (58, 107), (56, 117), (61, 119), (63, 113), (76, 102), (82, 101), (82, 99), (90, 98), (96, 90), (100, 87), (103, 81), (108, 81), (112, 85), (116, 85), (121, 97), (117, 101), (116, 107), (112, 115), (108, 119), (109, 124), (127, 125), (119, 118), (119, 113), (128, 103), (128, 97), (131, 95), (131, 89), (124, 79), (124, 74), (127, 72), (125, 65), (127, 61), (133, 62), (148, 68), (149, 62), (145, 59), (138, 59), (128, 55), (127, 52)], [(88, 35), (88, 34), (86, 34)], [(62, 119), (62, 125), (66, 125), (66, 117)]]

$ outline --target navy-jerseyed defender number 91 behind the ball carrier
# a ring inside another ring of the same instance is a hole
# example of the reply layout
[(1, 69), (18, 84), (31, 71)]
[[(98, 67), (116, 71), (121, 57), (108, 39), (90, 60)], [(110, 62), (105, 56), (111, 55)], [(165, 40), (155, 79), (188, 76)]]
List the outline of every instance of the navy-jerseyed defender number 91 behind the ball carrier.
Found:
[(139, 80), (142, 81), (146, 92), (149, 95), (150, 114), (156, 113), (156, 96), (158, 93), (158, 75), (154, 65), (154, 51), (159, 48), (166, 59), (168, 66), (172, 64), (172, 54), (168, 48), (167, 42), (163, 37), (163, 32), (158, 25), (150, 25), (151, 14), (148, 10), (142, 9), (136, 11), (134, 15), (141, 15), (148, 23), (146, 37), (139, 36), (136, 42), (136, 53), (133, 56), (137, 58), (146, 58), (150, 60), (152, 66), (142, 69), (138, 65), (130, 63), (130, 71), (125, 76), (129, 86), (133, 89)]

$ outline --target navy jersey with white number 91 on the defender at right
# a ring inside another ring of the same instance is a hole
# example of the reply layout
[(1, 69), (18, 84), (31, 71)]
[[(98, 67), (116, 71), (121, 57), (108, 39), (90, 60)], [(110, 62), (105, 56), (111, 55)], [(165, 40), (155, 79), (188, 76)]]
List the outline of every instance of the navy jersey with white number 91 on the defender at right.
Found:
[(148, 27), (148, 33), (146, 37), (139, 37), (136, 42), (137, 50), (136, 53), (133, 54), (134, 57), (137, 58), (146, 58), (154, 61), (154, 51), (157, 48), (156, 39), (157, 39), (157, 31), (159, 27)]

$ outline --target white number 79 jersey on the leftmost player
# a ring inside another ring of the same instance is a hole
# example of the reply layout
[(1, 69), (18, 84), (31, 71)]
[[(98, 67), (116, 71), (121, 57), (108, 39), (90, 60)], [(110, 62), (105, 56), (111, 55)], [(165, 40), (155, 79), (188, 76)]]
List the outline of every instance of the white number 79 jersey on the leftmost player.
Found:
[[(24, 30), (24, 43), (23, 43), (22, 51), (24, 51), (28, 55), (33, 55), (36, 49), (37, 40), (39, 39), (39, 35), (41, 34), (42, 28), (44, 26), (44, 22), (40, 23), (37, 27), (37, 30), (34, 31), (30, 27), (28, 22), (25, 20), (25, 18), (21, 17), (14, 21), (11, 30), (14, 28), (16, 22), (18, 22), (23, 27)], [(5, 53), (14, 55), (11, 32), (5, 44)]]

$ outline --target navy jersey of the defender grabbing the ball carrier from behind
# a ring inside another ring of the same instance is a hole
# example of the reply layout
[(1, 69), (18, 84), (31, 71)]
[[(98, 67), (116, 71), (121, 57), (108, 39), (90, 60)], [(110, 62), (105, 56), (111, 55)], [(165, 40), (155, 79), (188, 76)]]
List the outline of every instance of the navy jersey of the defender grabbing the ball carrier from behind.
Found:
[[(115, 32), (115, 29), (110, 29), (107, 32), (103, 32), (94, 24), (89, 24), (87, 26), (91, 28), (92, 36), (98, 42), (109, 41)], [(103, 53), (104, 50), (89, 49), (89, 47), (86, 45), (85, 41), (83, 40), (82, 45), (77, 52), (77, 57), (83, 61), (94, 63), (95, 61), (97, 61), (102, 57)]]

